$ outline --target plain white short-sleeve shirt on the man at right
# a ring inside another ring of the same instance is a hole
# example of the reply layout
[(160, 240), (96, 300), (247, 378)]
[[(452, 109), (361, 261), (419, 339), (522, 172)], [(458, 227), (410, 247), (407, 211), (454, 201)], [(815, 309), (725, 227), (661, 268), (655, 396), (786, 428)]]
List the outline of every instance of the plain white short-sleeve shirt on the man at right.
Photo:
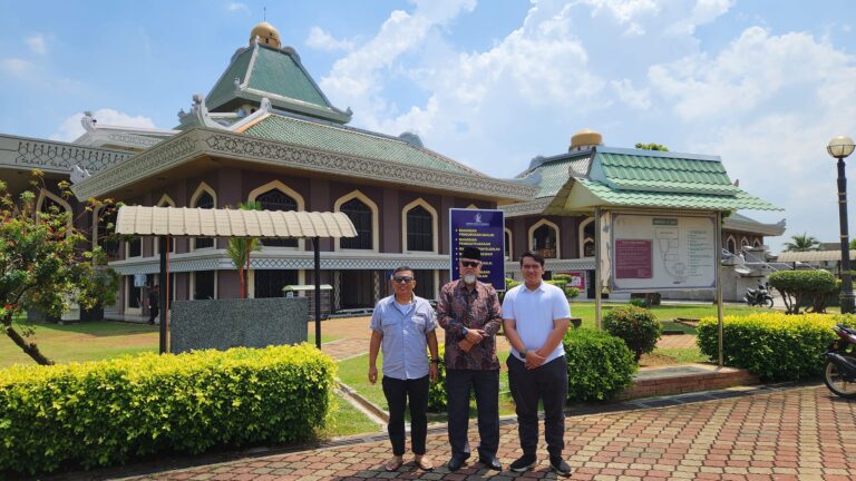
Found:
[[(571, 317), (571, 306), (561, 288), (542, 282), (538, 287), (529, 291), (526, 284), (518, 285), (505, 294), (503, 300), (503, 318), (513, 318), (521, 341), (527, 351), (541, 349), (553, 331), (553, 321)], [(523, 360), (517, 350), (512, 353)], [(565, 347), (558, 343), (545, 362), (565, 355)]]

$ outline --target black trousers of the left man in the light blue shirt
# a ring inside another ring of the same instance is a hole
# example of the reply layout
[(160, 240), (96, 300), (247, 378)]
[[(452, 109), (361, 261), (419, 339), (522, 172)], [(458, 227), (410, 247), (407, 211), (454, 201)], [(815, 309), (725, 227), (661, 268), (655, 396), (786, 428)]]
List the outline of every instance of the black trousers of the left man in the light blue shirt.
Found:
[(383, 376), (383, 395), (389, 404), (387, 432), (392, 443), (392, 454), (405, 454), (405, 408), (410, 404), (410, 443), (414, 454), (425, 454), (425, 438), (428, 434), (428, 376), (415, 380), (399, 380)]

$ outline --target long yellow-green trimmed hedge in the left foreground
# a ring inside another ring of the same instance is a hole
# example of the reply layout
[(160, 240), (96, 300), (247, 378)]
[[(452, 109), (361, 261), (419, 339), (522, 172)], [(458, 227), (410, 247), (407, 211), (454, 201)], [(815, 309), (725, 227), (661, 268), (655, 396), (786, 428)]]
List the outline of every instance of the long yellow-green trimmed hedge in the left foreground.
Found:
[(334, 374), (308, 344), (10, 367), (0, 371), (0, 470), (303, 440), (324, 424)]

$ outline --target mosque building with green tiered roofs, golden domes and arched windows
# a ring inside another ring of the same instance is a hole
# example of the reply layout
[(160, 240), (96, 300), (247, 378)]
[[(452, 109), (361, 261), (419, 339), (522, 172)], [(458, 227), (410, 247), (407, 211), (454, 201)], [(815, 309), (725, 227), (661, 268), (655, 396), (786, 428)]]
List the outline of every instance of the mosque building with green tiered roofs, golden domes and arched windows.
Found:
[[(57, 205), (100, 243), (98, 213), (85, 199), (128, 205), (342, 212), (359, 235), (321, 239), (321, 283), (331, 311), (369, 307), (387, 295), (386, 275), (409, 265), (417, 295), (435, 298), (449, 279), (449, 209), (500, 208), (506, 216), (507, 272), (516, 256), (541, 252), (551, 272), (591, 277), (594, 206), (659, 209), (775, 209), (735, 186), (712, 156), (606, 147), (600, 134), (577, 132), (567, 153), (537, 157), (513, 179), (498, 179), (425, 146), (417, 135), (390, 136), (350, 127), (352, 112), (333, 106), (291, 47), (268, 22), (255, 26), (207, 96), (195, 95), (174, 129), (101, 125), (84, 116), (72, 143), (0, 134), (0, 178), (12, 193), (29, 170), (69, 179), (80, 202), (50, 188), (37, 208)], [(522, 166), (523, 167), (523, 166)], [(722, 246), (736, 253), (781, 235), (784, 222), (726, 219)], [(176, 238), (169, 246), (175, 300), (240, 295), (226, 238)], [(286, 285), (312, 284), (312, 247), (303, 239), (265, 239), (249, 274), (252, 297), (282, 296)], [(143, 320), (146, 285), (157, 282), (156, 239), (103, 245), (121, 288), (105, 317)], [(590, 285), (592, 283), (590, 282)], [(591, 295), (591, 293), (587, 293)], [(585, 293), (584, 293), (585, 295)]]

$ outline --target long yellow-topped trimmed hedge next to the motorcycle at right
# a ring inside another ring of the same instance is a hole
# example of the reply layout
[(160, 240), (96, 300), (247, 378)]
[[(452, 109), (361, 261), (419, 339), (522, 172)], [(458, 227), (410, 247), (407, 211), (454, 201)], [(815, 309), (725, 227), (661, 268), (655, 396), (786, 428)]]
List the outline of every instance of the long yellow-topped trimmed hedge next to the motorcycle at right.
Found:
[[(820, 356), (837, 336), (839, 322), (853, 325), (856, 317), (784, 313), (726, 316), (722, 321), (722, 355), (726, 365), (746, 369), (762, 381), (795, 381), (818, 376)], [(717, 318), (699, 322), (697, 343), (702, 354), (717, 359)]]

